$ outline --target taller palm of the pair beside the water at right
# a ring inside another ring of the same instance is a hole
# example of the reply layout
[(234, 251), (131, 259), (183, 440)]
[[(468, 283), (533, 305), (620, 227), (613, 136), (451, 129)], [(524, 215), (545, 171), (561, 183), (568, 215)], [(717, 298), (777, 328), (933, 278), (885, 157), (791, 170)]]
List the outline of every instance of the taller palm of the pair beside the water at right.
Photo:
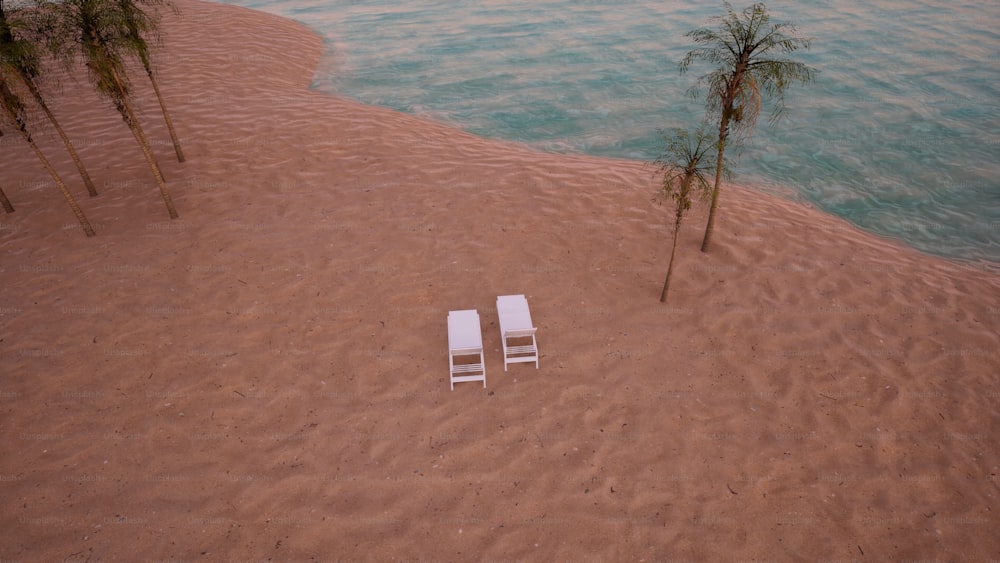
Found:
[(785, 88), (792, 82), (808, 83), (816, 72), (803, 63), (776, 57), (776, 54), (806, 49), (810, 41), (795, 35), (795, 27), (789, 23), (771, 23), (767, 6), (758, 3), (736, 13), (727, 2), (726, 10), (728, 13), (725, 16), (716, 18), (718, 28), (702, 28), (687, 33), (687, 37), (701, 47), (688, 52), (680, 63), (681, 72), (688, 70), (696, 60), (717, 65), (696, 84), (696, 88), (701, 85), (708, 87), (706, 105), (709, 113), (719, 118), (715, 187), (712, 189), (712, 206), (708, 212), (705, 239), (701, 244), (702, 252), (708, 251), (715, 226), (722, 159), (730, 133), (734, 135), (734, 141), (749, 137), (760, 114), (764, 94), (775, 98), (770, 120), (771, 123), (777, 121), (784, 111)]

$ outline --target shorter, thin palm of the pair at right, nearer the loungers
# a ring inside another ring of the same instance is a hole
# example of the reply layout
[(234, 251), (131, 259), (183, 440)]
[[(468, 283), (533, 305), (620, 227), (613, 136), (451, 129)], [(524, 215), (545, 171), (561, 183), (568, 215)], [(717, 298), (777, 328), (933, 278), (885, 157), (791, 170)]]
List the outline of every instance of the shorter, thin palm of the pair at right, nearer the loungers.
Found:
[[(691, 196), (698, 194), (705, 198), (711, 189), (705, 174), (712, 169), (709, 161), (714, 148), (712, 136), (701, 127), (693, 136), (683, 129), (673, 129), (670, 135), (663, 136), (663, 140), (665, 142), (663, 154), (656, 159), (656, 164), (659, 165), (658, 173), (663, 175), (659, 196), (674, 200), (675, 208), (674, 244), (670, 250), (667, 279), (663, 282), (663, 292), (660, 294), (661, 303), (667, 301), (670, 276), (674, 272), (674, 256), (677, 254), (681, 220), (684, 219), (684, 213), (691, 209)], [(702, 164), (703, 162), (706, 164)]]

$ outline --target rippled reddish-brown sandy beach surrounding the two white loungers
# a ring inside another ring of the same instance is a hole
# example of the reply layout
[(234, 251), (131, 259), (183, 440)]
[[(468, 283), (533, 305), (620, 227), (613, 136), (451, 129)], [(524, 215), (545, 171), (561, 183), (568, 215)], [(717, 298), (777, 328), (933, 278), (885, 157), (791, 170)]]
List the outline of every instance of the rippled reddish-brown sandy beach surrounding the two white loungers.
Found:
[[(641, 162), (312, 91), (321, 39), (166, 14), (147, 134), (88, 87), (0, 138), (0, 560), (1000, 559), (1000, 275)], [(738, 181), (738, 178), (737, 178)], [(503, 369), (497, 295), (540, 367)], [(487, 387), (449, 390), (449, 310)]]

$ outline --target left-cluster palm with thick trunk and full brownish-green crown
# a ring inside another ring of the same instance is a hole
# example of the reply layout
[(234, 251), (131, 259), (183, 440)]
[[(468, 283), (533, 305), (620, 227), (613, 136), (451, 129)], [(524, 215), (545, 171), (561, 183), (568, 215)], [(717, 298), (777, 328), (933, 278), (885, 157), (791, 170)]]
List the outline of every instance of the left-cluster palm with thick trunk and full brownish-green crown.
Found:
[[(156, 179), (156, 185), (167, 206), (171, 219), (177, 218), (170, 192), (160, 167), (153, 156), (153, 149), (142, 130), (142, 125), (132, 109), (131, 90), (124, 56), (130, 53), (130, 39), (122, 13), (115, 0), (64, 0), (45, 1), (45, 11), (54, 17), (47, 25), (46, 37), (54, 52), (72, 59), (75, 54), (83, 56), (91, 80), (98, 94), (111, 100), (128, 126), (136, 143)], [(67, 51), (66, 41), (74, 42), (74, 50)]]

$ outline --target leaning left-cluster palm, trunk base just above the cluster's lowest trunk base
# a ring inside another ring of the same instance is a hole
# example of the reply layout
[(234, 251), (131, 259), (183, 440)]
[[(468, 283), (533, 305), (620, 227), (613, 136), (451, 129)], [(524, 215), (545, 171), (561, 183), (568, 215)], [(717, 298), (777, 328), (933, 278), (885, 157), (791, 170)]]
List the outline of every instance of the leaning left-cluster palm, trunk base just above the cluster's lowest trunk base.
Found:
[(87, 193), (91, 197), (96, 196), (97, 188), (94, 187), (94, 181), (91, 180), (90, 174), (83, 165), (83, 161), (80, 160), (80, 155), (77, 154), (73, 143), (70, 142), (62, 126), (59, 125), (59, 121), (56, 120), (56, 116), (49, 109), (49, 105), (45, 103), (45, 98), (39, 90), (37, 79), (40, 73), (40, 63), (35, 45), (23, 38), (15, 37), (13, 33), (14, 26), (15, 22), (13, 18), (8, 17), (4, 12), (3, 1), (0, 0), (0, 73), (5, 72), (9, 76), (16, 77), (28, 88), (31, 97), (38, 104), (38, 107), (42, 108), (45, 117), (52, 123), (52, 126), (59, 134), (59, 138), (66, 145), (66, 151), (73, 160), (73, 164), (76, 165), (76, 169), (80, 172), (83, 184), (87, 187)]

